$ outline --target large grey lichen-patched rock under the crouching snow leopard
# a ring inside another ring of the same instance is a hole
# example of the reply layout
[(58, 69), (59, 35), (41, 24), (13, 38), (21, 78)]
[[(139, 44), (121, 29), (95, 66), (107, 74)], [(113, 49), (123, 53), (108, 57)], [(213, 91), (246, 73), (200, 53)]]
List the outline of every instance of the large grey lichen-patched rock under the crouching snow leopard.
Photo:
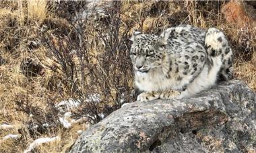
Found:
[(229, 81), (190, 99), (135, 102), (90, 127), (70, 152), (254, 152), (256, 95)]

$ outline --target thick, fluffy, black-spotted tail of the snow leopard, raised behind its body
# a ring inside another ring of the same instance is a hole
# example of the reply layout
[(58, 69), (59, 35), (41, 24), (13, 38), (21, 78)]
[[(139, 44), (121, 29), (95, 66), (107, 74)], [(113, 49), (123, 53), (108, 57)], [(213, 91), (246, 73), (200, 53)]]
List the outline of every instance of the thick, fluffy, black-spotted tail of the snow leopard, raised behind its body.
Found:
[(218, 81), (228, 81), (233, 77), (232, 50), (228, 46), (228, 40), (224, 34), (216, 29), (210, 28), (205, 34), (205, 49), (207, 50), (208, 60), (214, 65), (214, 59), (220, 56), (222, 66), (218, 72)]

